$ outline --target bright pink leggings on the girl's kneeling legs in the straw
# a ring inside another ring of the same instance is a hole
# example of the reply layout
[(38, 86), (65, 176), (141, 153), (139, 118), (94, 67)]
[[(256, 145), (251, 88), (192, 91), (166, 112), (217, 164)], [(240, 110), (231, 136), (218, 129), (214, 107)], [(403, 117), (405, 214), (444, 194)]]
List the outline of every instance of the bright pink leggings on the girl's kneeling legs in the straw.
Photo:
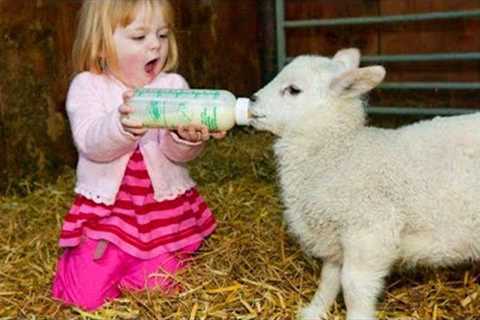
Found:
[[(103, 256), (94, 260), (97, 243), (97, 240), (85, 239), (78, 246), (65, 250), (53, 281), (55, 299), (95, 310), (107, 300), (120, 296), (120, 289), (160, 289), (166, 293), (179, 289), (171, 275), (183, 268), (184, 263), (174, 254), (142, 260), (109, 243)], [(197, 247), (193, 245), (184, 251), (192, 252)], [(188, 258), (189, 254), (183, 257)]]

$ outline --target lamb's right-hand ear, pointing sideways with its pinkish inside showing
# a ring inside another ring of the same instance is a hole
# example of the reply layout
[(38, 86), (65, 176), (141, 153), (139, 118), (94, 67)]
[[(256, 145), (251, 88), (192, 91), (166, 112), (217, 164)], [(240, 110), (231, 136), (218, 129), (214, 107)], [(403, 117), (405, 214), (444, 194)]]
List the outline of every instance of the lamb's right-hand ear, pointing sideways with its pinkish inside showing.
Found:
[(344, 72), (330, 83), (334, 96), (353, 98), (375, 88), (385, 77), (385, 68), (371, 66)]

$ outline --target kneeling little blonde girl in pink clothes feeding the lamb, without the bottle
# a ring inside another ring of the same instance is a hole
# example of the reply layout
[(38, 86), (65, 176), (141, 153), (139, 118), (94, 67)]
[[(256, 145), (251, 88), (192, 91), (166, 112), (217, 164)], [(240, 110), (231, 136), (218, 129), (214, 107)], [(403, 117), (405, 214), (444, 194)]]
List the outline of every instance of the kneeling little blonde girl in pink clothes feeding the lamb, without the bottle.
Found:
[(95, 310), (120, 290), (176, 292), (172, 274), (215, 228), (185, 163), (206, 127), (150, 129), (126, 119), (132, 89), (187, 88), (168, 0), (84, 0), (67, 112), (78, 150), (53, 297)]

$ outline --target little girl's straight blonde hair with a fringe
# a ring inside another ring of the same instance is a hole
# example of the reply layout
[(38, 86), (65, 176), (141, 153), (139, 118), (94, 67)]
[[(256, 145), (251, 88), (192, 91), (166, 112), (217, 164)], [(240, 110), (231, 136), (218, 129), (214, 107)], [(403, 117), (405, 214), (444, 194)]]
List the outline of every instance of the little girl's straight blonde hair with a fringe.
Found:
[[(173, 71), (178, 65), (178, 47), (174, 34), (174, 10), (168, 0), (84, 0), (80, 10), (77, 35), (73, 44), (72, 64), (75, 73), (90, 71), (102, 73), (108, 66), (118, 69), (113, 33), (118, 26), (125, 27), (135, 18), (140, 5), (147, 12), (162, 10), (168, 32), (168, 56), (163, 71)], [(151, 16), (147, 16), (151, 19)]]

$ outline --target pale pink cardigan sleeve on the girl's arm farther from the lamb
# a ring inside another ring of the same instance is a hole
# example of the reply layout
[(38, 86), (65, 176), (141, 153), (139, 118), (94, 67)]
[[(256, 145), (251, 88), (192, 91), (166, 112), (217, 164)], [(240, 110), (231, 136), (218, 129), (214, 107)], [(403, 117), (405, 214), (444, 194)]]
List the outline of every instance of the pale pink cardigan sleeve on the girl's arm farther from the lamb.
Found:
[[(97, 80), (97, 81), (94, 81)], [(98, 79), (89, 73), (75, 77), (67, 95), (67, 114), (79, 152), (96, 162), (112, 161), (132, 151), (138, 137), (123, 130), (117, 108), (108, 110)]]

